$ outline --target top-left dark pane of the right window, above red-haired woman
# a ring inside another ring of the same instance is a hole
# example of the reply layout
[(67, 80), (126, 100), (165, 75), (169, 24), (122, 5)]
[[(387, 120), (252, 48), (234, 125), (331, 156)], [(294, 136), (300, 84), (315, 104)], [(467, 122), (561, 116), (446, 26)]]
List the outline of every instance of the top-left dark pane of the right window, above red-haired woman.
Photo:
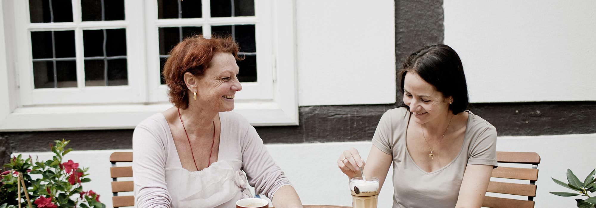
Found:
[(202, 5), (200, 0), (158, 0), (157, 18), (201, 18), (203, 17), (203, 10), (201, 7)]

